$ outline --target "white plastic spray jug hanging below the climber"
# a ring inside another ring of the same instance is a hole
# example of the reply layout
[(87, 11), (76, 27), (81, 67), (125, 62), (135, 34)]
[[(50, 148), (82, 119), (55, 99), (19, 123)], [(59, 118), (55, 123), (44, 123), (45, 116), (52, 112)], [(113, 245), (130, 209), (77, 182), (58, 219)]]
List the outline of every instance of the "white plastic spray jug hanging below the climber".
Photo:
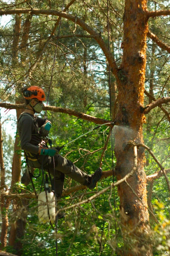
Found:
[[(47, 200), (46, 200), (47, 193)], [(49, 210), (49, 214), (48, 214)], [(46, 223), (55, 222), (55, 196), (53, 192), (43, 191), (38, 196), (38, 217), (39, 221)]]

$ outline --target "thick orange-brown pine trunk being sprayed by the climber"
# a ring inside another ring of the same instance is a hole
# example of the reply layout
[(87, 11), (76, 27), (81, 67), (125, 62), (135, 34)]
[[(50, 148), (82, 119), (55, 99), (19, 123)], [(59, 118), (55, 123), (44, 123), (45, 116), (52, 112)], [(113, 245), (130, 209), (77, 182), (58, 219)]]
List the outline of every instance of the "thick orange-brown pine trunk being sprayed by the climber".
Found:
[[(124, 13), (124, 54), (119, 71), (118, 115), (115, 126), (116, 176), (120, 180), (133, 168), (133, 149), (128, 141), (143, 142), (142, 113), (146, 65), (146, 0), (127, 0)], [(122, 255), (152, 255), (147, 209), (144, 151), (138, 148), (135, 173), (119, 185), (124, 237)]]

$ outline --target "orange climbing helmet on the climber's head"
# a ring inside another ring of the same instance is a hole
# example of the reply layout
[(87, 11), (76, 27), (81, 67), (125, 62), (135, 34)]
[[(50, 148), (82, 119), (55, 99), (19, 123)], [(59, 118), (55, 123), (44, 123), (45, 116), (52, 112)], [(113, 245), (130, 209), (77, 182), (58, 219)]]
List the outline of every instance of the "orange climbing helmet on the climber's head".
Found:
[(36, 98), (40, 101), (45, 100), (45, 93), (42, 90), (42, 88), (39, 86), (31, 86), (31, 87), (23, 90), (23, 96), (26, 100), (31, 100), (34, 98)]

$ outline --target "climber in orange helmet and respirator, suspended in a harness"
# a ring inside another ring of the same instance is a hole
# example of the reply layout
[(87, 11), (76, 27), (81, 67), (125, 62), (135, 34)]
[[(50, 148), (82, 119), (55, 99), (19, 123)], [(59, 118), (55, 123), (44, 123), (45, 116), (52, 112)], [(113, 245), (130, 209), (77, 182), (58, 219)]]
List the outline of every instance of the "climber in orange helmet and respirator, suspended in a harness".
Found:
[(53, 186), (57, 198), (61, 197), (64, 186), (64, 175), (94, 189), (102, 176), (102, 169), (98, 168), (92, 175), (81, 171), (70, 160), (62, 157), (57, 148), (48, 148), (44, 142), (51, 128), (51, 122), (40, 118), (35, 113), (41, 113), (45, 93), (41, 87), (31, 86), (23, 90), (26, 100), (25, 111), (18, 119), (18, 133), (21, 148), (26, 155), (30, 167), (48, 169), (53, 176)]

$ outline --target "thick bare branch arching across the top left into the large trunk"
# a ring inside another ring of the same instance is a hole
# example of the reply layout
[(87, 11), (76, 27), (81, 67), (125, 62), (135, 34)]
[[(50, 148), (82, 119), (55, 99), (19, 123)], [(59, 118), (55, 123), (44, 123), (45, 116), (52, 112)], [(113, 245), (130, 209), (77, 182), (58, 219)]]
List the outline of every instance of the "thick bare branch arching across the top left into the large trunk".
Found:
[(53, 16), (59, 16), (68, 20), (71, 20), (72, 22), (78, 24), (80, 27), (82, 27), (85, 31), (87, 31), (91, 36), (93, 36), (93, 38), (97, 41), (97, 43), (99, 44), (99, 46), (101, 47), (101, 49), (103, 50), (109, 64), (111, 67), (111, 70), (113, 72), (113, 74), (115, 75), (115, 77), (119, 80), (119, 76), (118, 76), (118, 68), (116, 65), (116, 62), (114, 61), (114, 58), (112, 56), (112, 53), (109, 51), (108, 46), (105, 44), (104, 40), (102, 39), (100, 33), (97, 33), (94, 29), (92, 29), (89, 25), (87, 25), (83, 20), (81, 20), (80, 18), (78, 18), (76, 15), (70, 15), (68, 13), (65, 12), (60, 12), (57, 10), (41, 10), (41, 9), (8, 9), (8, 10), (4, 10), (1, 9), (0, 10), (0, 16), (1, 15), (10, 15), (10, 14), (21, 14), (21, 13), (28, 13), (28, 14), (32, 14), (32, 15), (53, 15)]

